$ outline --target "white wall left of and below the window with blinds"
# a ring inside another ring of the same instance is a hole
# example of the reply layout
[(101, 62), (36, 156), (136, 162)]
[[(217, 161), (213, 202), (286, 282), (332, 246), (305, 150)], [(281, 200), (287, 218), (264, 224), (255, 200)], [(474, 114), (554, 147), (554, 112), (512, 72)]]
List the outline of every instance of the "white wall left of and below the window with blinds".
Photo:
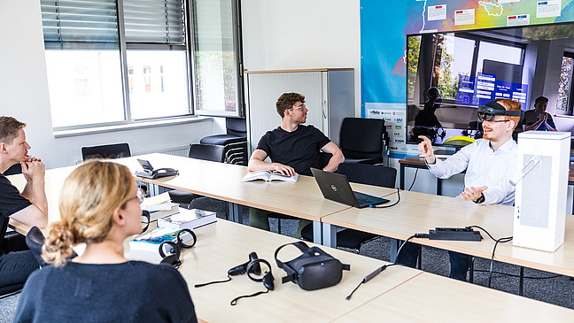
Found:
[(199, 142), (203, 136), (224, 132), (212, 120), (170, 127), (118, 131), (55, 139), (43, 50), (39, 0), (0, 1), (0, 115), (27, 123), (31, 155), (48, 168), (73, 165), (81, 146), (128, 142), (131, 150), (150, 151)]

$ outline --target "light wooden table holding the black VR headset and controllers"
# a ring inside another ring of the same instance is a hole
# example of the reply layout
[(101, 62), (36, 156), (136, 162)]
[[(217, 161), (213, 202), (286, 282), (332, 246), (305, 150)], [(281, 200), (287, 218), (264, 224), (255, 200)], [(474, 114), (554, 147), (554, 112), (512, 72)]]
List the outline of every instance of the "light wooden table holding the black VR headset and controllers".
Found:
[[(421, 273), (402, 266), (389, 267), (361, 286), (353, 298), (346, 301), (345, 297), (364, 276), (388, 263), (321, 247), (344, 264), (351, 265), (351, 271), (343, 272), (343, 280), (334, 287), (306, 291), (291, 282), (282, 284), (281, 278), (286, 274), (275, 265), (274, 260), (277, 247), (298, 240), (223, 219), (218, 219), (213, 225), (200, 227), (195, 232), (198, 243), (190, 250), (183, 251), (180, 273), (188, 283), (198, 318), (208, 322), (327, 322), (344, 316)], [(231, 306), (229, 302), (237, 296), (265, 290), (263, 284), (251, 281), (243, 274), (234, 276), (229, 282), (194, 288), (198, 283), (225, 280), (229, 268), (246, 262), (252, 251), (272, 265), (275, 290), (260, 296), (242, 298), (237, 301), (237, 305)], [(288, 246), (281, 250), (279, 258), (291, 260), (299, 255), (299, 250)]]

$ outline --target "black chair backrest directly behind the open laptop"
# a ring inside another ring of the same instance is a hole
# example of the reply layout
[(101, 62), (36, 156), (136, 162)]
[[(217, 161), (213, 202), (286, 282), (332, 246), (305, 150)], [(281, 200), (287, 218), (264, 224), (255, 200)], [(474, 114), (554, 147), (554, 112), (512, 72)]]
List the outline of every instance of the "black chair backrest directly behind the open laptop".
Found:
[(382, 165), (358, 163), (342, 163), (338, 165), (337, 173), (344, 174), (349, 181), (355, 183), (394, 188), (397, 170)]

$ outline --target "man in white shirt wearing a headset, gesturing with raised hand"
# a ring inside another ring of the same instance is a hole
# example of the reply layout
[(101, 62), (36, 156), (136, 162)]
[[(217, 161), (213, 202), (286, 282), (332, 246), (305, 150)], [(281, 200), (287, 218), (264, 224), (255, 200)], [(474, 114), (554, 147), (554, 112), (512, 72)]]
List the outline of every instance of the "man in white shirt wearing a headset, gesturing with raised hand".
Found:
[[(431, 141), (421, 136), (423, 142), (417, 148), (423, 155), (432, 174), (447, 179), (456, 173), (464, 175), (464, 190), (457, 196), (476, 204), (514, 204), (515, 187), (509, 181), (516, 174), (517, 144), (512, 133), (520, 121), (521, 106), (517, 101), (501, 99), (486, 104), (494, 113), (478, 112), (483, 121), (482, 139), (463, 147), (453, 156), (440, 160), (435, 157)], [(471, 225), (471, 223), (469, 223)], [(397, 259), (397, 263), (414, 267), (418, 247), (408, 243)], [(466, 281), (471, 257), (449, 251), (450, 277)]]

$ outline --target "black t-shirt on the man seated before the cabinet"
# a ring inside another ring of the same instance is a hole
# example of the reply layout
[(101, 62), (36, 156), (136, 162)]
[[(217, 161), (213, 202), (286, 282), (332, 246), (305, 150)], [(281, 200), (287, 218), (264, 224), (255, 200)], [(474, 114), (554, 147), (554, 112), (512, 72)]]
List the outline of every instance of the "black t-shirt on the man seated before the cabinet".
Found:
[(313, 126), (299, 125), (293, 132), (281, 127), (268, 131), (257, 144), (274, 163), (289, 165), (295, 172), (311, 175), (311, 167), (321, 168), (321, 149), (330, 140)]

